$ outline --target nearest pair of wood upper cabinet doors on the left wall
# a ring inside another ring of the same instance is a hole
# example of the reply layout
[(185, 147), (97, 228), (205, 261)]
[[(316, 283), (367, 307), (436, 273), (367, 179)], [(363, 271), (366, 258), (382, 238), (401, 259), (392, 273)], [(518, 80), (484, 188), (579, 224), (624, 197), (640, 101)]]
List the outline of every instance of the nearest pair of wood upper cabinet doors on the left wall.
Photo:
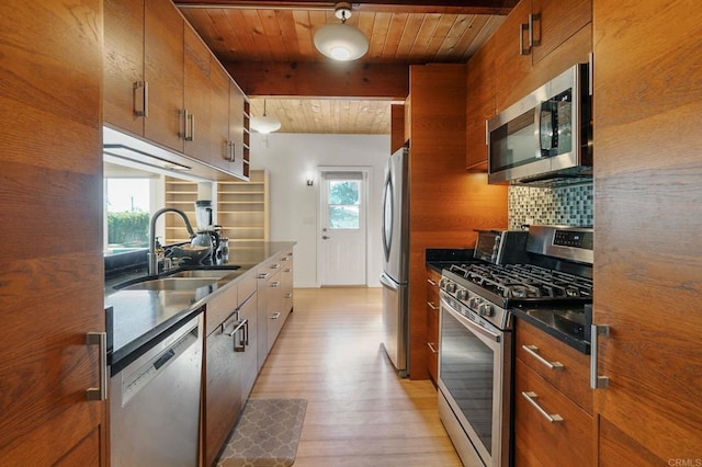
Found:
[(170, 0), (105, 0), (104, 24), (104, 122), (182, 151), (182, 16)]

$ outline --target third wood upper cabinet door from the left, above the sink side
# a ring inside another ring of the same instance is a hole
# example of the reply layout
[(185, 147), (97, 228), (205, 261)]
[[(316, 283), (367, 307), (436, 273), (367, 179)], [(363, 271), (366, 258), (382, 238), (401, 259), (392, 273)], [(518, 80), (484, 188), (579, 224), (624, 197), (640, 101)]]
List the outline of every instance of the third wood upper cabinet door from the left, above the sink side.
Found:
[(183, 151), (204, 162), (210, 161), (211, 141), (211, 65), (210, 49), (190, 24), (184, 25), (183, 103), (188, 112)]

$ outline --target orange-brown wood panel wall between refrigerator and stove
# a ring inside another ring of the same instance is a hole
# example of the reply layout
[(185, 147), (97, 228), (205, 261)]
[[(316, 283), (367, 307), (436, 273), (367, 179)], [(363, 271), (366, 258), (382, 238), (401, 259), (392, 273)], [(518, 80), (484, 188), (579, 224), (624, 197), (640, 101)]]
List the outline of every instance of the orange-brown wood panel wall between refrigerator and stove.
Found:
[(478, 228), (507, 227), (507, 187), (465, 170), (465, 65), (410, 68), (409, 375), (426, 379), (427, 248), (473, 248)]

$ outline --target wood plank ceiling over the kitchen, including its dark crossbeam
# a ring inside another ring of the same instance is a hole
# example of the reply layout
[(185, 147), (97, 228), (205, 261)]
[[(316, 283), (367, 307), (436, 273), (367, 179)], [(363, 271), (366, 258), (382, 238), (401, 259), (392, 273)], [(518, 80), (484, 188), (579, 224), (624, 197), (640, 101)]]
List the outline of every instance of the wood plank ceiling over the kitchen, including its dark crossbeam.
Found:
[[(406, 96), (409, 65), (466, 62), (517, 0), (353, 3), (347, 24), (365, 34), (370, 48), (361, 59), (339, 64), (313, 43), (315, 31), (340, 22), (333, 2), (174, 3), (250, 96), (253, 116), (263, 115), (265, 99), (280, 132), (389, 134), (389, 106)], [(342, 80), (332, 77), (342, 72), (346, 86), (335, 87)]]

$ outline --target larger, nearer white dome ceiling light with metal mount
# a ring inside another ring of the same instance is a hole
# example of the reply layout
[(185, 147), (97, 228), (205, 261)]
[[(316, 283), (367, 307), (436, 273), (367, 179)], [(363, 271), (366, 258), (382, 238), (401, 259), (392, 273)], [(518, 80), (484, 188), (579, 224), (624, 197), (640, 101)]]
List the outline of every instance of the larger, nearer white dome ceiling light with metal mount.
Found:
[(317, 30), (315, 47), (335, 60), (350, 61), (363, 57), (369, 52), (369, 39), (360, 30), (347, 24), (351, 18), (351, 3), (337, 3), (333, 10), (341, 24), (327, 24)]

